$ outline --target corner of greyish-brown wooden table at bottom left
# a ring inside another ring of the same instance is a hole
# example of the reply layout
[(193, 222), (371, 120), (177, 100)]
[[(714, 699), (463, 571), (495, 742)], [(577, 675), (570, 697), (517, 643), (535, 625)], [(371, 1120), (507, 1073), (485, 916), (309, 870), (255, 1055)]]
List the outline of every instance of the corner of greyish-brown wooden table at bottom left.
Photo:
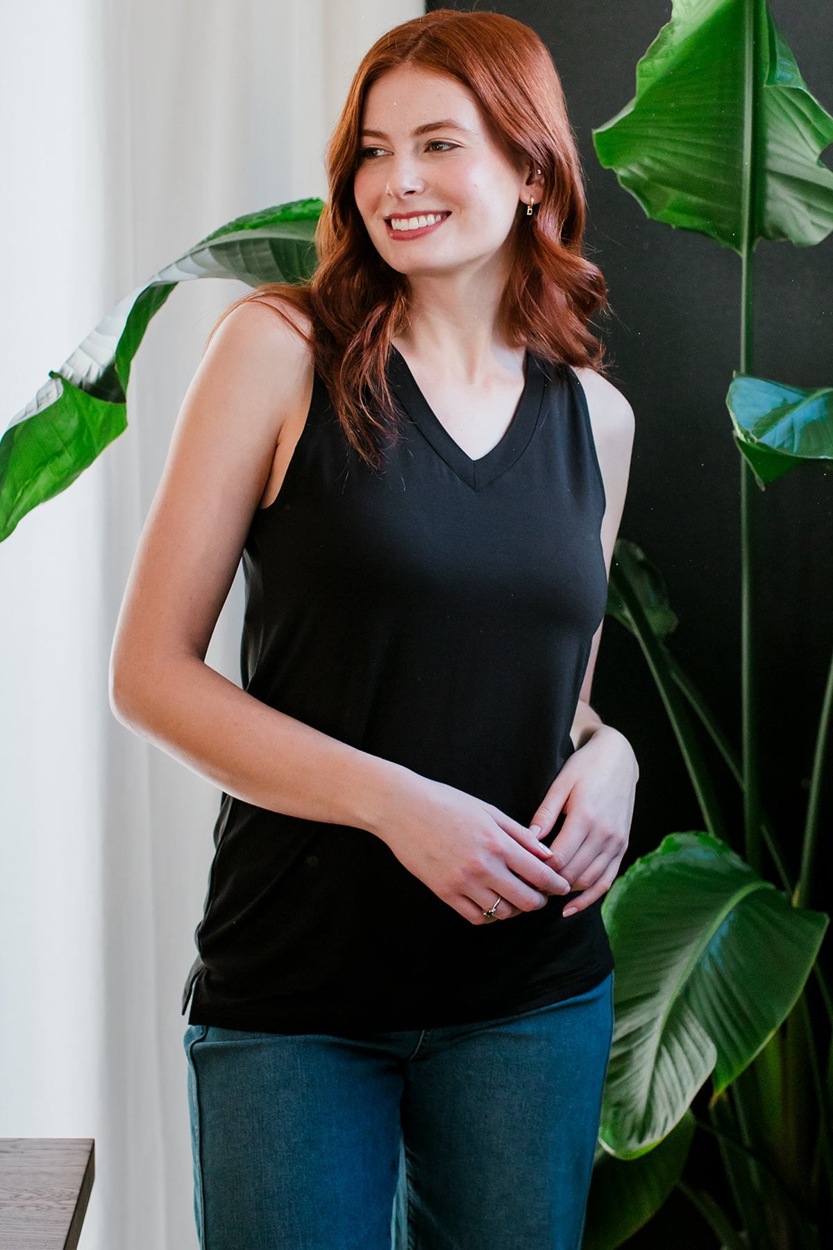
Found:
[(0, 1138), (2, 1250), (75, 1250), (94, 1176), (92, 1138)]

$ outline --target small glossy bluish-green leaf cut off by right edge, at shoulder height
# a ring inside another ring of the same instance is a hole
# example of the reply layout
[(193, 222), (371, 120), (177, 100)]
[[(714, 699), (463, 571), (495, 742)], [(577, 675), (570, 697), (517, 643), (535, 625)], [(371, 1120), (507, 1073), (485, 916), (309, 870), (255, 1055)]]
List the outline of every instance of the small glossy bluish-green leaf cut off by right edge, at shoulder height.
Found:
[(736, 372), (726, 398), (733, 439), (764, 486), (807, 460), (833, 459), (833, 388), (802, 390)]

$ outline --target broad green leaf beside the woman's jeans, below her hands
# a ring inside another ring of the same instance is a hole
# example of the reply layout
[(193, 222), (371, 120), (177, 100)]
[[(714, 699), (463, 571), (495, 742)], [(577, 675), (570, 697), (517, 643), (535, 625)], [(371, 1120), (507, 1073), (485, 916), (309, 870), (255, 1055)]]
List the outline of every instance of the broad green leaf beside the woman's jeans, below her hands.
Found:
[(719, 838), (669, 834), (602, 905), (616, 1026), (599, 1138), (632, 1159), (726, 1089), (792, 1010), (828, 924), (794, 908)]

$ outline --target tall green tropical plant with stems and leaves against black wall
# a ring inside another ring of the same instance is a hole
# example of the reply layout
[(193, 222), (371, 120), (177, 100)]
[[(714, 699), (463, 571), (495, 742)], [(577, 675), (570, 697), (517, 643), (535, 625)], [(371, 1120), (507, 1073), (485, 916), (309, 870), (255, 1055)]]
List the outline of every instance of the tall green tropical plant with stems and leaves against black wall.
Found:
[[(742, 749), (738, 758), (671, 654), (676, 616), (659, 572), (619, 539), (607, 610), (647, 660), (704, 828), (669, 834), (604, 899), (616, 1029), (586, 1250), (626, 1242), (674, 1188), (727, 1250), (803, 1250), (833, 1234), (833, 1006), (818, 959), (829, 918), (807, 906), (833, 662), (793, 882), (761, 798), (753, 582), (762, 492), (798, 464), (833, 458), (833, 390), (752, 375), (754, 246), (818, 244), (833, 230), (833, 174), (818, 159), (832, 140), (833, 119), (809, 94), (764, 0), (674, 0), (638, 62), (633, 100), (593, 131), (601, 164), (649, 218), (707, 234), (742, 259), (741, 369), (726, 400), (741, 452)], [(742, 790), (743, 856), (731, 845), (703, 734)], [(811, 984), (822, 1011), (816, 1029)], [(698, 1119), (692, 1102), (709, 1076), (707, 1118)], [(734, 1211), (684, 1178), (698, 1129), (717, 1139)]]

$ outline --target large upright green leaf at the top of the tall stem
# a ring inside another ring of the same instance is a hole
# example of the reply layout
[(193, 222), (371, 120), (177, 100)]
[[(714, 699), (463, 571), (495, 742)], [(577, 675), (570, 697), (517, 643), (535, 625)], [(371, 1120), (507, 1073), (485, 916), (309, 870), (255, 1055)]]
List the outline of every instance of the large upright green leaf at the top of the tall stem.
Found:
[[(833, 230), (833, 174), (818, 159), (833, 118), (807, 90), (764, 0), (751, 120), (756, 239), (816, 244)], [(601, 164), (614, 169), (649, 218), (743, 248), (744, 0), (674, 0), (637, 65), (633, 100), (593, 130)]]

